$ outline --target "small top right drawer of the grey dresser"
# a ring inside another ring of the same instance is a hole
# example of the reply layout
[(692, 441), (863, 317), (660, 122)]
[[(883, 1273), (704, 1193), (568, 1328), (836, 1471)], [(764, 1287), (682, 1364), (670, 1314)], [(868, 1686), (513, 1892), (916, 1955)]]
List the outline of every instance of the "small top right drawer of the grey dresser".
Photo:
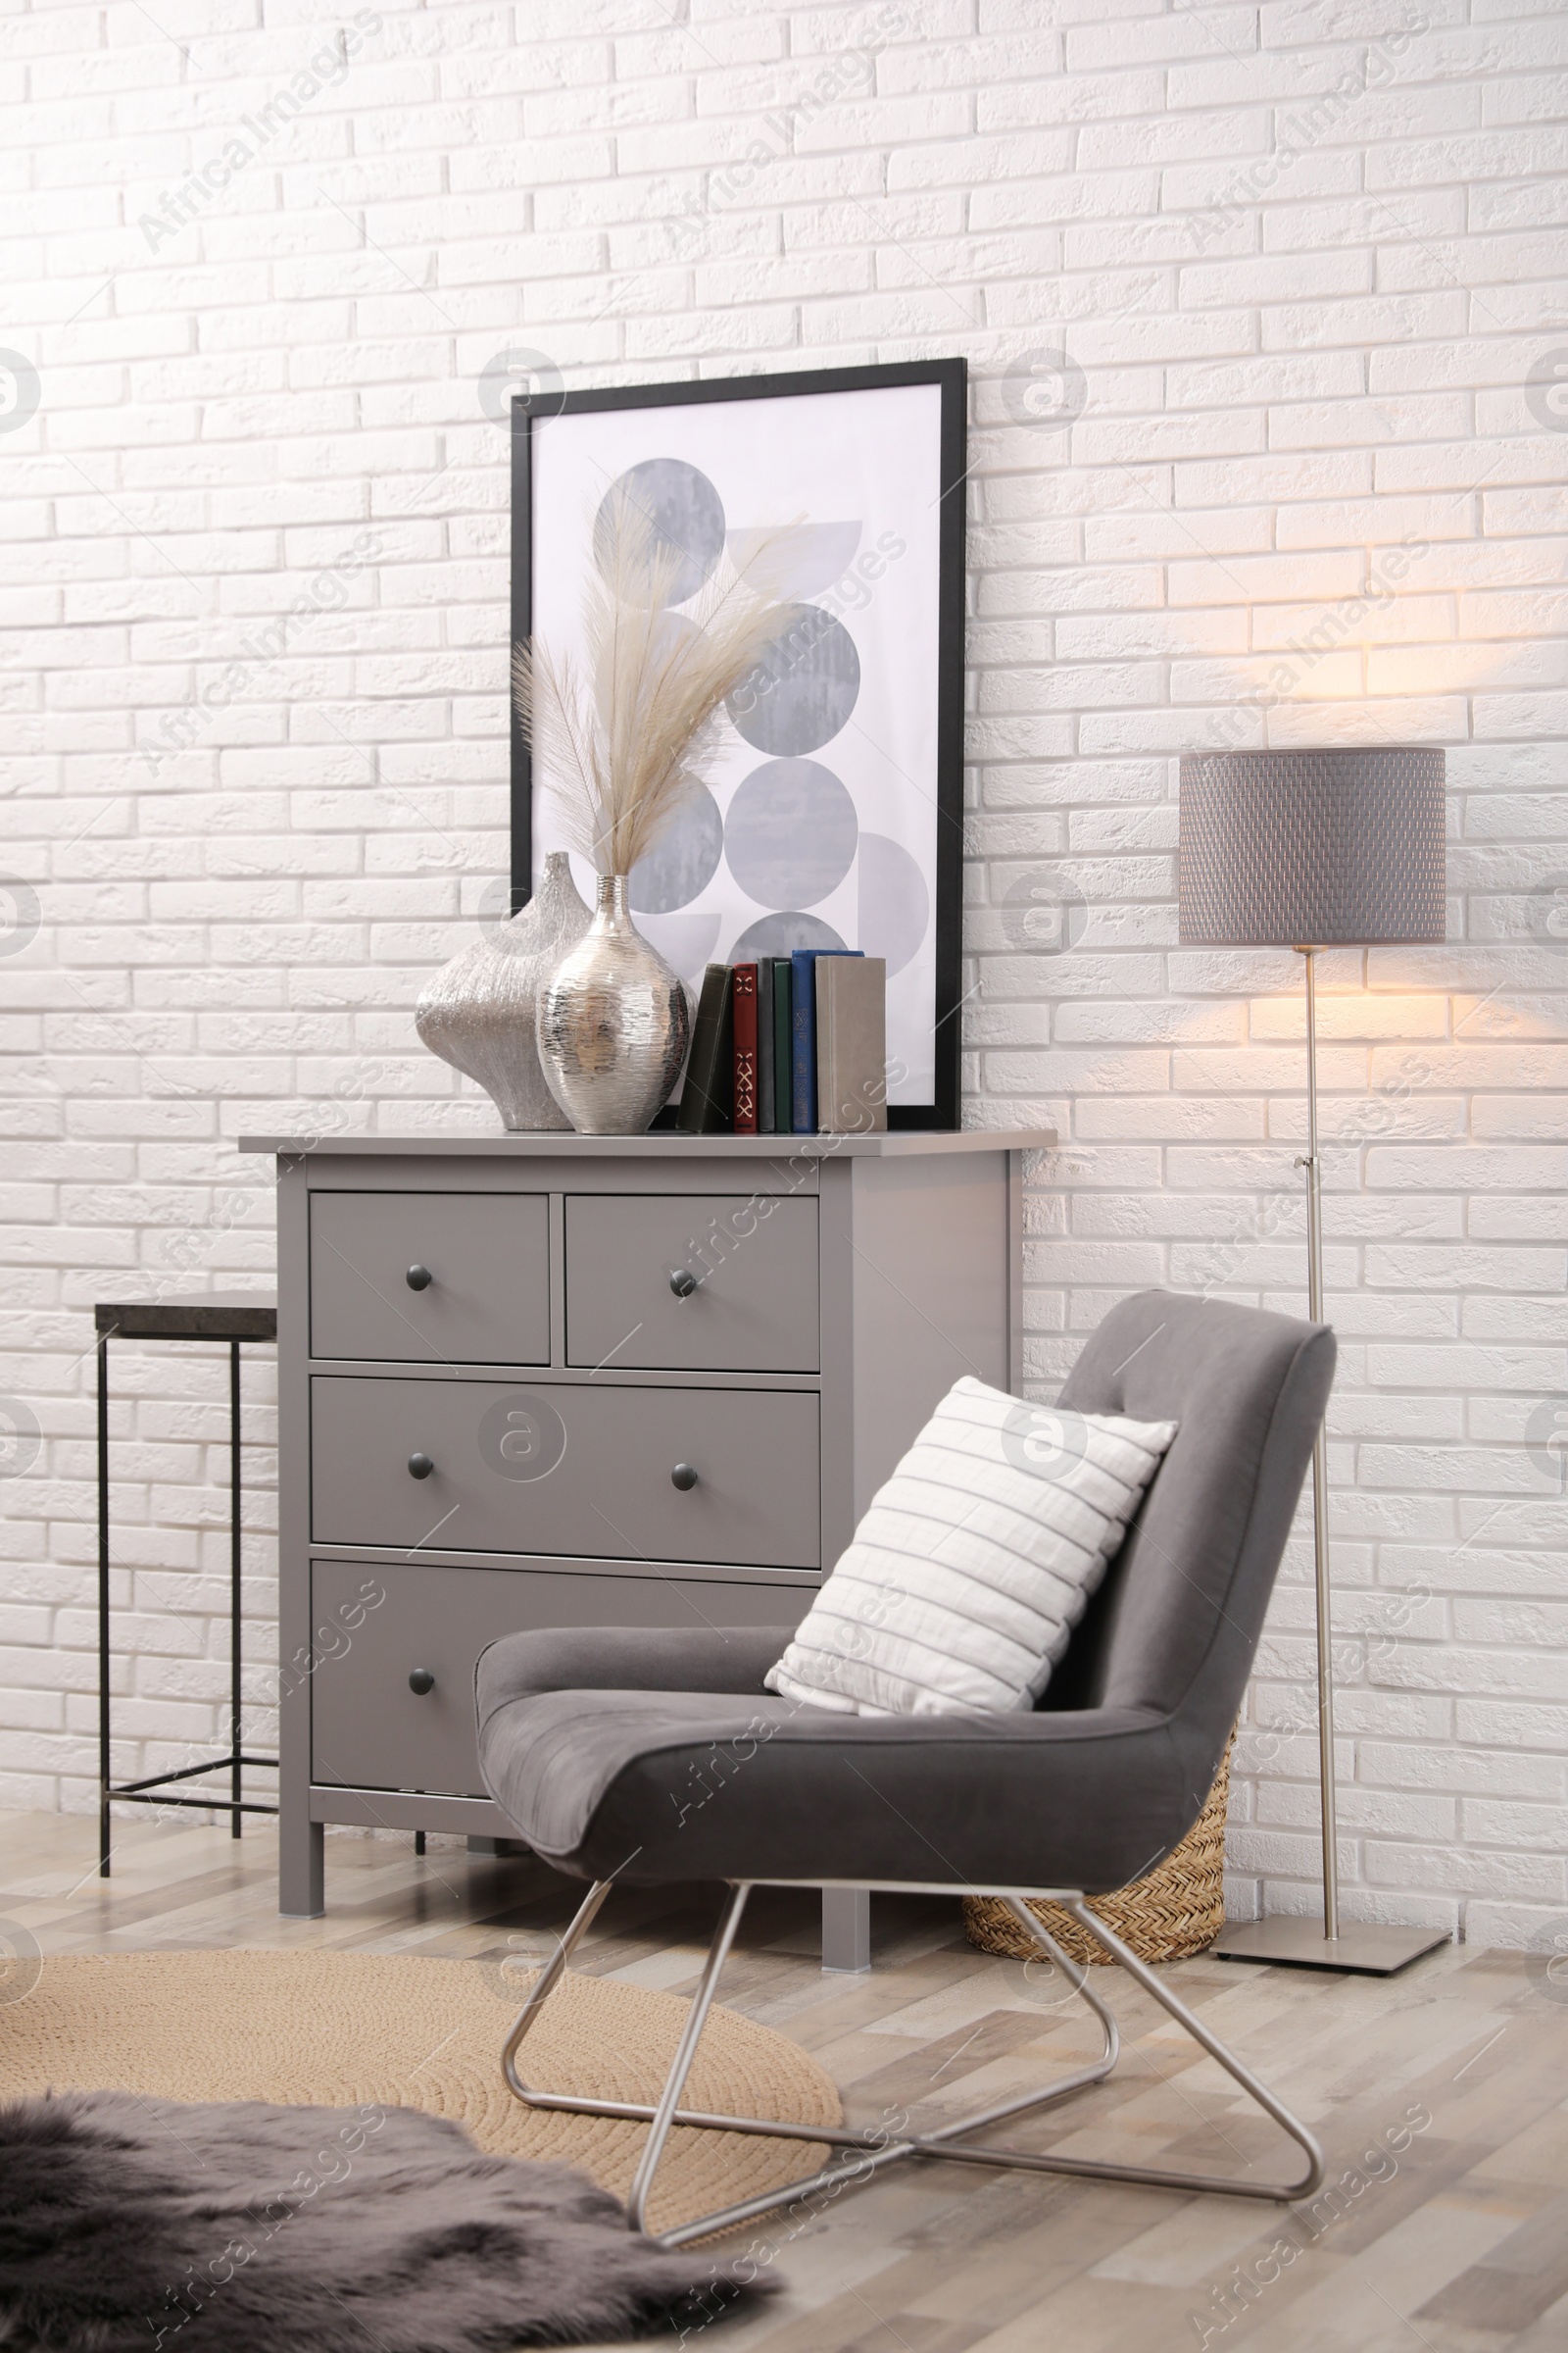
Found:
[(816, 1200), (569, 1193), (567, 1362), (816, 1372)]

